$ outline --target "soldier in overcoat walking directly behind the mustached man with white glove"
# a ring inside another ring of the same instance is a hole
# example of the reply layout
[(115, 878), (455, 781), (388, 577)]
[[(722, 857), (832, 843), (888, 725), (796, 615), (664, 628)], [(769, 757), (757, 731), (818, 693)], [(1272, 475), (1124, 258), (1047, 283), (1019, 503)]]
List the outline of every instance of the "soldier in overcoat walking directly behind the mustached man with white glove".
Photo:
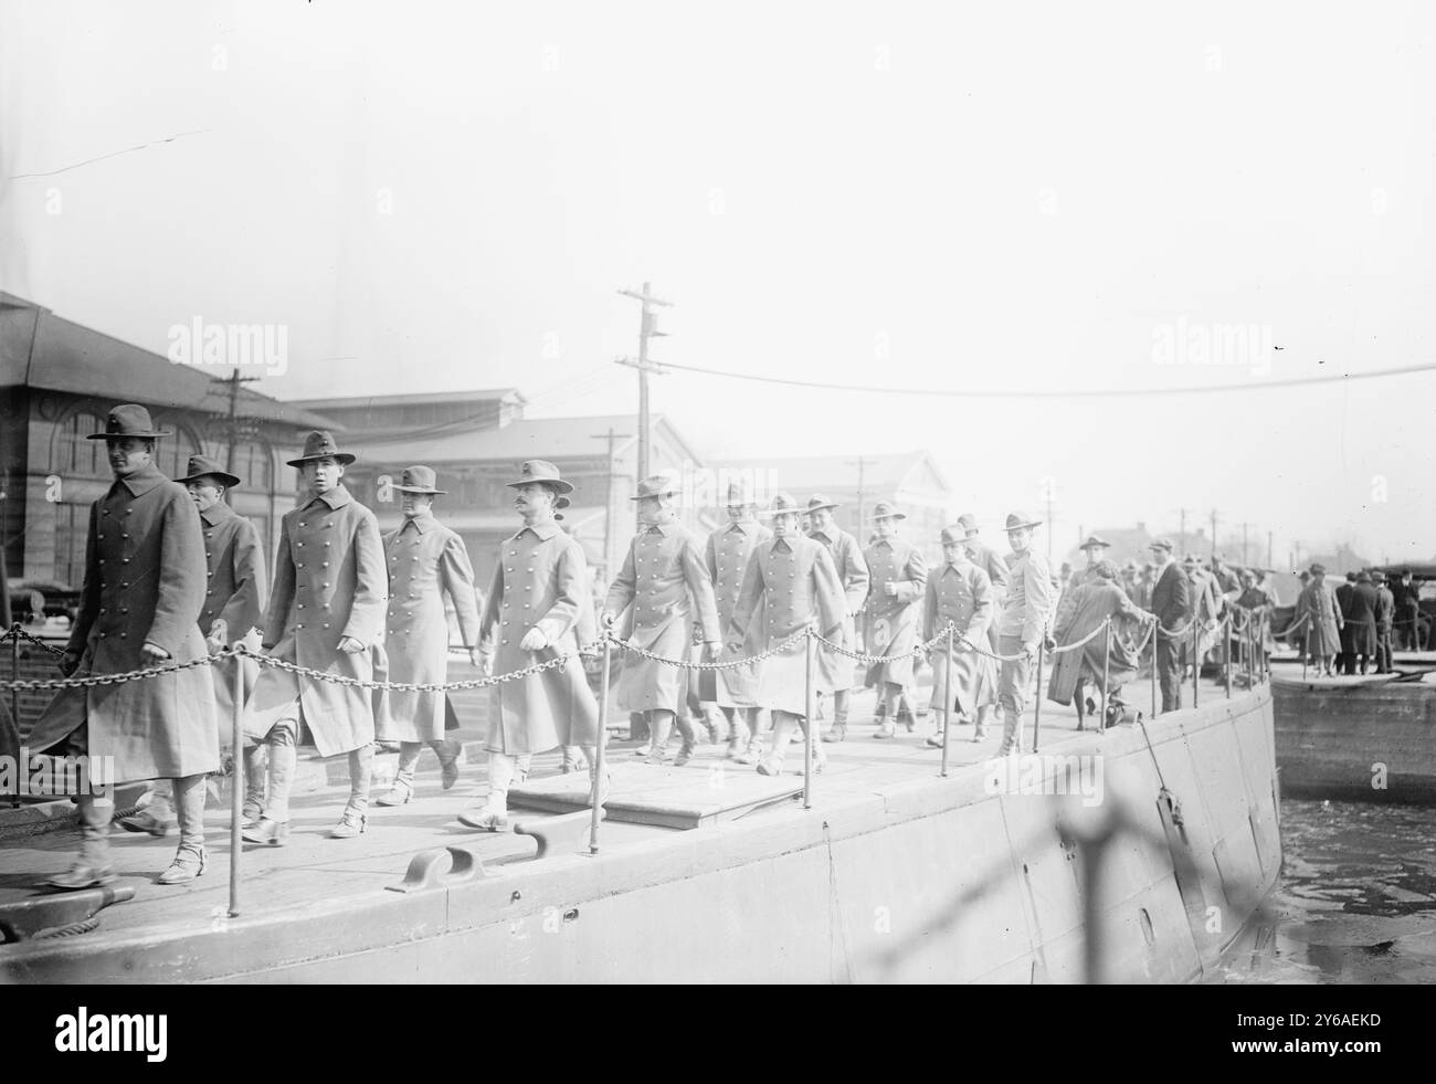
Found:
[[(609, 587), (603, 603), (603, 622), (615, 625), (626, 613), (622, 637), (666, 659), (686, 659), (692, 626), (704, 643), (704, 655), (717, 660), (721, 643), (714, 586), (704, 564), (698, 537), (675, 521), (676, 487), (663, 477), (643, 478), (638, 494), (639, 531), (629, 543), (623, 567)], [(696, 742), (692, 724), (679, 715), (684, 678), (676, 666), (646, 659), (638, 652), (623, 652), (619, 676), (619, 711), (648, 716), (652, 749), (649, 762), (668, 758), (668, 738), (675, 716), (684, 748), (675, 764), (694, 755)]]

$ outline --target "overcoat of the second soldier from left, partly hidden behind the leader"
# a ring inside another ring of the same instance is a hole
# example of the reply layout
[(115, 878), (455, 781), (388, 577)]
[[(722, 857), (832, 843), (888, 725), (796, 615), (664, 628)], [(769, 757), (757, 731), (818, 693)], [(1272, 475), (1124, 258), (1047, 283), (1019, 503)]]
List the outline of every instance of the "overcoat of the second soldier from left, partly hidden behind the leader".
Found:
[[(224, 646), (244, 640), (250, 650), (258, 650), (257, 632), (264, 620), (269, 600), (269, 573), (260, 533), (230, 505), (215, 504), (200, 513), (204, 533), (204, 610), (200, 612), (200, 632), (208, 636), (215, 622), (224, 622)], [(228, 744), (234, 725), (234, 676), (240, 678), (240, 711), (248, 704), (260, 665), (254, 659), (220, 659), (214, 671), (214, 701), (218, 709), (221, 744)]]

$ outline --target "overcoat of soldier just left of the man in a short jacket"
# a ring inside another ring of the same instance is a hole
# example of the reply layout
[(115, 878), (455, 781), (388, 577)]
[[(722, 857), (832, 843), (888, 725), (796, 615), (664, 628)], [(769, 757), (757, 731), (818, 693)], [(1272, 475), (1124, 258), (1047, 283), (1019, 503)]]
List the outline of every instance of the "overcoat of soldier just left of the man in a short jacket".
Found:
[[(997, 704), (997, 665), (989, 655), (972, 648), (988, 649), (988, 627), (992, 623), (992, 581), (974, 561), (958, 564), (943, 561), (928, 576), (922, 610), (922, 637), (931, 640), (951, 622), (952, 637), (952, 708), (971, 716), (978, 708)], [(966, 636), (966, 643), (958, 639)], [(972, 645), (972, 646), (968, 646)], [(942, 709), (948, 681), (948, 645), (932, 649), (932, 706)]]

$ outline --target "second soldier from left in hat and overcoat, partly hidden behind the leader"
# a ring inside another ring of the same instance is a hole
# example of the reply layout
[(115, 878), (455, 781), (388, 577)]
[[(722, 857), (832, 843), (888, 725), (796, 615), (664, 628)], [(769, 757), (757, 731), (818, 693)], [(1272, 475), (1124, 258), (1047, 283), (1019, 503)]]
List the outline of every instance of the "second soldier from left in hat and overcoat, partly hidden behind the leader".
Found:
[[(243, 515), (237, 515), (224, 503), (224, 494), (240, 484), (237, 475), (220, 468), (215, 459), (205, 455), (191, 455), (188, 472), (177, 480), (190, 491), (190, 498), (200, 513), (200, 527), (204, 533), (205, 590), (204, 609), (200, 612), (200, 632), (211, 655), (224, 648), (244, 645), (258, 650), (257, 626), (264, 620), (264, 603), (269, 599), (269, 574), (264, 564), (264, 550), (260, 533)], [(220, 726), (220, 745), (225, 745), (234, 732), (234, 682), (240, 682), (240, 711), (244, 711), (254, 682), (258, 679), (258, 663), (253, 659), (227, 658), (210, 665), (214, 675), (215, 722)], [(244, 824), (258, 820), (264, 805), (264, 747), (248, 742), (244, 758)], [(164, 836), (171, 827), (171, 787), (161, 780), (149, 804), (132, 817), (123, 817), (119, 824), (126, 831), (148, 831)]]

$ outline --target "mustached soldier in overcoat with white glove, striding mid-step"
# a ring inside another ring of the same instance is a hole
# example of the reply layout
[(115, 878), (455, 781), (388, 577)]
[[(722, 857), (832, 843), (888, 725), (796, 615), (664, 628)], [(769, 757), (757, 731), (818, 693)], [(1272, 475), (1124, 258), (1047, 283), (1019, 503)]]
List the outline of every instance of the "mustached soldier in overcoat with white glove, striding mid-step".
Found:
[[(530, 459), (508, 482), (523, 527), (504, 540), (494, 566), (478, 635), (493, 676), (569, 656), (561, 666), (494, 685), (490, 692), (488, 798), (460, 820), (474, 828), (508, 826), (508, 788), (528, 758), (556, 747), (580, 747), (595, 761), (599, 705), (579, 649), (597, 633), (583, 547), (557, 520), (573, 484), (546, 459)], [(596, 762), (595, 762), (596, 770)], [(600, 795), (602, 801), (602, 795)]]

